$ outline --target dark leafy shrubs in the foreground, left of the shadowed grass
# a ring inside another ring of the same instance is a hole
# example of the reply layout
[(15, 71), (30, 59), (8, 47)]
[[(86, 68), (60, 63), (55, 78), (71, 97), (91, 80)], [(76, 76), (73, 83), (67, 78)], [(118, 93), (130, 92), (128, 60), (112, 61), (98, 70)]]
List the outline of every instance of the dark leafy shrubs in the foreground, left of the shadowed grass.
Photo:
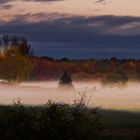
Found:
[(100, 130), (98, 109), (83, 103), (27, 107), (20, 102), (0, 107), (1, 140), (92, 140)]

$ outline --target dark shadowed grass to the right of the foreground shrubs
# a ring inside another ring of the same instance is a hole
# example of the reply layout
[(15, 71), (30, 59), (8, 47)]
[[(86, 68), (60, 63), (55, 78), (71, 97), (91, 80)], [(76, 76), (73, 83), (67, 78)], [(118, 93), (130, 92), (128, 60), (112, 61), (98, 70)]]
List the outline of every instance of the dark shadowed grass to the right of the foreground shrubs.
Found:
[(140, 139), (140, 112), (101, 110), (103, 140)]

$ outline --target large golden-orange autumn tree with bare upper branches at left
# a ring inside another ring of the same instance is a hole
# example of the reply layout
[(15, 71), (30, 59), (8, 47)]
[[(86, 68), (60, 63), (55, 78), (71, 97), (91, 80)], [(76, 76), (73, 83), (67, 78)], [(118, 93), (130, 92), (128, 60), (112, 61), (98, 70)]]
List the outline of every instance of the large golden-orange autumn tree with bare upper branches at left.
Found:
[(23, 37), (4, 35), (1, 38), (0, 78), (10, 83), (27, 79), (33, 69), (32, 49)]

